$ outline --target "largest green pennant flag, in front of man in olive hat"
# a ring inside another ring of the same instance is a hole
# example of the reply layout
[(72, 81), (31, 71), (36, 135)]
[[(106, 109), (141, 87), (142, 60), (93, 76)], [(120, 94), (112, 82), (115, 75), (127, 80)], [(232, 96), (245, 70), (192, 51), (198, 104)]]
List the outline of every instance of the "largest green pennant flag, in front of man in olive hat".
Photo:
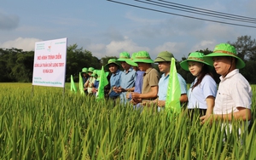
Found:
[(177, 70), (175, 66), (175, 59), (172, 58), (170, 66), (168, 89), (166, 94), (166, 111), (169, 113), (180, 113), (180, 98), (181, 89), (177, 78)]

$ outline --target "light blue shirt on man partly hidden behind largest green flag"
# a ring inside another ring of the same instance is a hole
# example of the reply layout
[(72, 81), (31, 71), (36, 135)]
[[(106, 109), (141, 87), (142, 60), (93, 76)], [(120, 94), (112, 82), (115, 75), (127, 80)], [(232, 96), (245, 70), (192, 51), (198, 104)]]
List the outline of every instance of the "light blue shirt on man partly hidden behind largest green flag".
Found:
[[(181, 94), (187, 94), (187, 83), (183, 79), (183, 77), (177, 73), (178, 82), (181, 89)], [(169, 83), (169, 74), (165, 76), (165, 73), (162, 74), (160, 81), (158, 83), (159, 90), (158, 90), (158, 100), (166, 100), (166, 94), (168, 89)]]

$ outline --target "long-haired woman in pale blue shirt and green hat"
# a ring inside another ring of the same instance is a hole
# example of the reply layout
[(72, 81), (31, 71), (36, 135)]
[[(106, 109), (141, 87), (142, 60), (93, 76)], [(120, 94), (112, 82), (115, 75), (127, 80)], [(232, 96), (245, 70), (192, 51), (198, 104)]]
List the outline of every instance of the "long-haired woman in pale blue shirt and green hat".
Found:
[(189, 116), (193, 119), (195, 112), (210, 115), (213, 111), (214, 100), (217, 93), (217, 83), (212, 77), (212, 66), (203, 60), (204, 54), (192, 52), (187, 60), (180, 62), (180, 66), (195, 76), (189, 88)]

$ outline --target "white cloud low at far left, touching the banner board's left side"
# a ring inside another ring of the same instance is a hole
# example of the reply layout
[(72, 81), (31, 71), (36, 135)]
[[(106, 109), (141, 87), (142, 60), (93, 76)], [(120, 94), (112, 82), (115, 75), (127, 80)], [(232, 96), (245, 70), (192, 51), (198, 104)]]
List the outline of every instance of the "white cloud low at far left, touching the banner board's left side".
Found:
[(35, 43), (42, 41), (37, 38), (32, 37), (18, 37), (15, 40), (7, 41), (4, 43), (0, 43), (0, 48), (5, 49), (23, 49), (24, 51), (32, 51), (35, 48)]

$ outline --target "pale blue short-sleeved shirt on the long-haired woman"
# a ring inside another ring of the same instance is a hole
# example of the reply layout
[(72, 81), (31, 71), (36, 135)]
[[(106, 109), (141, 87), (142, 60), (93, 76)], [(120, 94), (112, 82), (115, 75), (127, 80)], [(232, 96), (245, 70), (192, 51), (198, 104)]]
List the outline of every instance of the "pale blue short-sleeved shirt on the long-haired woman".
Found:
[(206, 75), (201, 80), (201, 83), (197, 85), (193, 90), (193, 85), (197, 82), (197, 77), (195, 81), (191, 83), (190, 89), (188, 92), (189, 97), (189, 109), (200, 108), (200, 109), (207, 109), (207, 97), (213, 96), (216, 97), (217, 94), (217, 84), (215, 83), (214, 79)]

